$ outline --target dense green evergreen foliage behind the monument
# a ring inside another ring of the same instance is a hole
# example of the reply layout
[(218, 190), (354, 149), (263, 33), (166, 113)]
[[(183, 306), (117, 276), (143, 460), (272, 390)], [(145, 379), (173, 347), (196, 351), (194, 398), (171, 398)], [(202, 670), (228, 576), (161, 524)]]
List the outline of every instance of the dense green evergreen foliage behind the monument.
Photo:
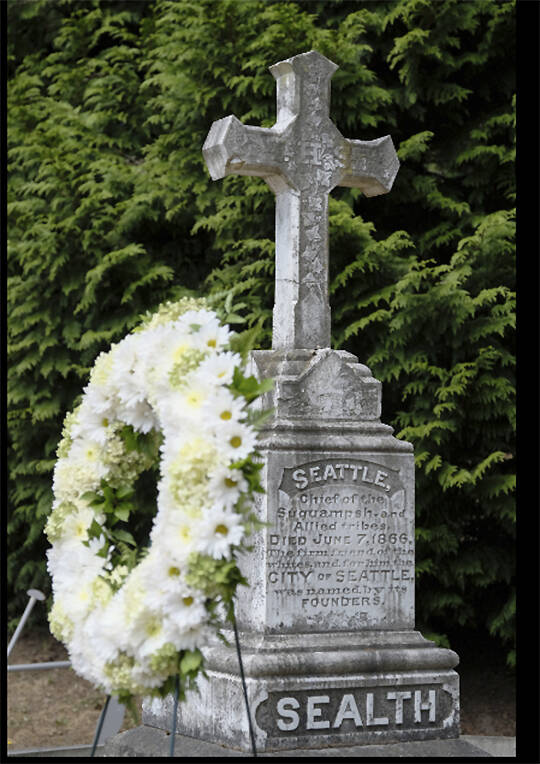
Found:
[(513, 660), (515, 4), (35, 0), (8, 4), (11, 615), (49, 590), (42, 528), (62, 419), (97, 354), (188, 290), (269, 347), (274, 198), (213, 183), (215, 119), (275, 121), (268, 66), (339, 65), (342, 134), (390, 133), (392, 191), (330, 200), (334, 347), (383, 381), (415, 447), (417, 622)]

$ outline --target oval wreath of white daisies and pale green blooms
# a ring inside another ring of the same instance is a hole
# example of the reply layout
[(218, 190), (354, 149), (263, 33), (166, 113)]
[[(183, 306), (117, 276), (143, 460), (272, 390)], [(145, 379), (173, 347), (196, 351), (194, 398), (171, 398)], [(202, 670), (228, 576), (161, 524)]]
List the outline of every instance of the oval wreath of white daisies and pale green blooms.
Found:
[[(74, 670), (124, 702), (196, 676), (217, 603), (231, 614), (236, 554), (256, 522), (247, 404), (267, 384), (244, 376), (233, 333), (203, 305), (167, 303), (101, 353), (58, 447), (45, 529), (50, 628)], [(128, 520), (156, 466), (143, 548)]]

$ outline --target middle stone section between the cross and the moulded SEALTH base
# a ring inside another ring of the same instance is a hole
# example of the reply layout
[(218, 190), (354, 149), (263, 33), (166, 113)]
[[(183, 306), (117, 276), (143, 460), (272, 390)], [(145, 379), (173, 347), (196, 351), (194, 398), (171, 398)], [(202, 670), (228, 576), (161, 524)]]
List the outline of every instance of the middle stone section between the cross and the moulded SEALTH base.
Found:
[(245, 562), (241, 627), (414, 628), (414, 457), (379, 421), (380, 383), (339, 351), (257, 351), (253, 363), (276, 384), (262, 402), (274, 409), (259, 437), (267, 525)]

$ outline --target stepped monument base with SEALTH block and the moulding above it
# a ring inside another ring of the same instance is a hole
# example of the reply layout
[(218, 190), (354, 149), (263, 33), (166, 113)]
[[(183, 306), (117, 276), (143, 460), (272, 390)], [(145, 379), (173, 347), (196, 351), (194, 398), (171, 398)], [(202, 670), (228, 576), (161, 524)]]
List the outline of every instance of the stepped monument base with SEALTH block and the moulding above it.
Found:
[[(226, 633), (232, 641), (232, 634)], [(240, 637), (257, 751), (459, 737), (458, 663), (416, 631)], [(238, 658), (204, 650), (206, 678), (178, 709), (177, 731), (250, 751)], [(143, 722), (170, 729), (172, 698), (143, 703)]]

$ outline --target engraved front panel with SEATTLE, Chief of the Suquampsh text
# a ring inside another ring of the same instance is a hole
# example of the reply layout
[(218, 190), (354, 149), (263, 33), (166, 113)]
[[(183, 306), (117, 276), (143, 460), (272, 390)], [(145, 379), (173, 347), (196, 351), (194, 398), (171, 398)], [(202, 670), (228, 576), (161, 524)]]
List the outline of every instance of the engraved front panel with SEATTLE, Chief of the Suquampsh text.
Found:
[(414, 625), (414, 511), (398, 470), (365, 459), (284, 467), (267, 535), (267, 616), (294, 631)]

